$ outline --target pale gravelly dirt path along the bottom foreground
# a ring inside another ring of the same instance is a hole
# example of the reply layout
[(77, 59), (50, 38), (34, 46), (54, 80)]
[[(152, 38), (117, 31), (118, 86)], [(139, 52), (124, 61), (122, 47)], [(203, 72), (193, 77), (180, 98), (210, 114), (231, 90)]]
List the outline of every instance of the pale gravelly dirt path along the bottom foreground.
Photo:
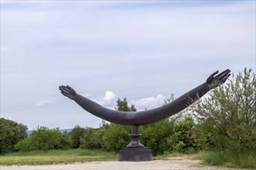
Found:
[[(205, 166), (200, 165), (200, 161), (197, 160), (188, 160), (186, 158), (170, 158), (167, 161), (157, 160), (152, 162), (84, 162), (84, 163), (74, 163), (74, 164), (60, 164), (60, 165), (12, 165), (12, 166), (1, 166), (1, 170), (81, 170), (81, 169), (111, 169), (111, 170), (119, 170), (119, 169), (209, 169), (209, 170), (223, 170), (223, 169), (231, 169), (231, 168), (220, 168), (213, 166)], [(237, 169), (236, 169), (237, 170)]]

